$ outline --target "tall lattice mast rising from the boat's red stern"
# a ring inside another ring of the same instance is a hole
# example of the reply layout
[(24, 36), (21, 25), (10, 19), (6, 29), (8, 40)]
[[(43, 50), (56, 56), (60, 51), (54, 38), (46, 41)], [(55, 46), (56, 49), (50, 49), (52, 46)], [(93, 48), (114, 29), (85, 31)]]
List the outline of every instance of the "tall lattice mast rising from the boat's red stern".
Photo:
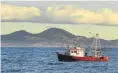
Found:
[(99, 34), (96, 34), (92, 43), (91, 56), (100, 57), (101, 56), (101, 45), (100, 39), (98, 38)]

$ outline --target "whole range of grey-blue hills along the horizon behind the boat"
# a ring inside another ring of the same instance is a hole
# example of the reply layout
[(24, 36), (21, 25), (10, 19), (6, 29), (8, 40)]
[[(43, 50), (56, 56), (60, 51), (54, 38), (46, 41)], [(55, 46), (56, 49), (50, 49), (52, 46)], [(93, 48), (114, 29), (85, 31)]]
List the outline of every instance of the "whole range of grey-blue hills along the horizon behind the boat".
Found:
[[(50, 28), (38, 34), (31, 34), (24, 30), (1, 35), (2, 46), (64, 46), (78, 42), (79, 45), (91, 45), (92, 38), (75, 36), (59, 28)], [(117, 46), (118, 40), (103, 40), (102, 45)]]

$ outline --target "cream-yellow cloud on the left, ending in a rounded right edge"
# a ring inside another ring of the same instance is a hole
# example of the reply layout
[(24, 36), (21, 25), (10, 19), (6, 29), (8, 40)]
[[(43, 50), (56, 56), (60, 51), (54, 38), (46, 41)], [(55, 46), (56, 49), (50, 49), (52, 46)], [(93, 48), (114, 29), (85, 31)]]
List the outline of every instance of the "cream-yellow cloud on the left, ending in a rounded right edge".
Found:
[(40, 10), (34, 6), (26, 7), (1, 4), (2, 20), (27, 20), (40, 15)]

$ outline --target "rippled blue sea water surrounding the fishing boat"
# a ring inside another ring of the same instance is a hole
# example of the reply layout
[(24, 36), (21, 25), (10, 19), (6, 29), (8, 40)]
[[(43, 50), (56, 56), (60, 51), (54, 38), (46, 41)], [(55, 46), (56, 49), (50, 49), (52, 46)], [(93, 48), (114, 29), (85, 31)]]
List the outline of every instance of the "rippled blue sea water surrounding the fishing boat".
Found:
[(1, 73), (118, 73), (118, 48), (104, 49), (108, 62), (60, 62), (64, 48), (2, 47)]

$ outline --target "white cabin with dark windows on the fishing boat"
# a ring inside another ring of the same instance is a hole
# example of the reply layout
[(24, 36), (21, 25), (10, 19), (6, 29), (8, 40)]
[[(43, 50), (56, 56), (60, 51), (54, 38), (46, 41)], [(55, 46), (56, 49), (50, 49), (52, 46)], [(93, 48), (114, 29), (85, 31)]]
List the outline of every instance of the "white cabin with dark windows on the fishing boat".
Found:
[(80, 47), (69, 47), (67, 53), (70, 56), (84, 57), (84, 49)]

